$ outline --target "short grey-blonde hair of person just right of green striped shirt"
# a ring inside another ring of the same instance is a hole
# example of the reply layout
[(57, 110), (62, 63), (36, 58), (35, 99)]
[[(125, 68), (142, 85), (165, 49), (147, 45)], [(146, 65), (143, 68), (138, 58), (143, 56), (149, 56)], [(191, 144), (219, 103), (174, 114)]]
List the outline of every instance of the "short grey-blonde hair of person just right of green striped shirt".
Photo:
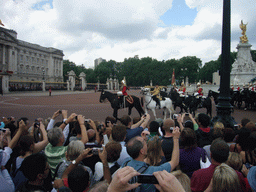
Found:
[(67, 148), (67, 156), (69, 157), (69, 160), (75, 160), (83, 152), (84, 148), (82, 141), (71, 141)]

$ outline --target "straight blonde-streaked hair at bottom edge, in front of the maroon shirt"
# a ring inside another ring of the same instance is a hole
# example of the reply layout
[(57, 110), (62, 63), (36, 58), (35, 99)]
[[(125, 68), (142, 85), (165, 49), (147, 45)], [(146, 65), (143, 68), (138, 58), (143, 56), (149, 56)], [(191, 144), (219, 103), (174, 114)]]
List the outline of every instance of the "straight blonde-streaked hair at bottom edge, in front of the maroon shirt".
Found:
[(233, 168), (222, 163), (215, 168), (212, 177), (211, 192), (242, 192), (237, 173)]

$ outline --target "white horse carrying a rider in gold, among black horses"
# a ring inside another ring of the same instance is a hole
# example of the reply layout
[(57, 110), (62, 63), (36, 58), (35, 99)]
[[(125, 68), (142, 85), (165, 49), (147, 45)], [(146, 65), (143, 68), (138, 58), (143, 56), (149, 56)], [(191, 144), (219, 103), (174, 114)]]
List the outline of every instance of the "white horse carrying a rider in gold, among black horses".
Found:
[[(142, 88), (142, 94), (144, 95), (145, 100), (145, 112), (148, 112), (150, 109), (153, 112), (155, 119), (156, 117), (156, 102), (153, 100), (152, 95), (150, 93), (149, 88)], [(172, 105), (172, 100), (168, 97), (164, 98), (165, 100), (160, 101), (161, 109), (164, 109), (164, 119), (166, 119), (166, 109), (168, 109), (170, 113), (170, 118), (172, 118), (172, 114), (175, 112)]]

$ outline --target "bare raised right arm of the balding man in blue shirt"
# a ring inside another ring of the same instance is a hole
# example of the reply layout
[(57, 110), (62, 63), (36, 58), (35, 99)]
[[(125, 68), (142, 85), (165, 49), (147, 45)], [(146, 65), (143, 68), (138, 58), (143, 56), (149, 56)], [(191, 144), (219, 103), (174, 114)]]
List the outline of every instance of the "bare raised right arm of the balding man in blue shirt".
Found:
[(179, 164), (180, 159), (180, 149), (179, 149), (179, 138), (180, 131), (178, 127), (175, 127), (173, 132), (173, 151), (172, 151), (172, 159), (169, 161), (171, 164), (171, 171), (173, 171)]

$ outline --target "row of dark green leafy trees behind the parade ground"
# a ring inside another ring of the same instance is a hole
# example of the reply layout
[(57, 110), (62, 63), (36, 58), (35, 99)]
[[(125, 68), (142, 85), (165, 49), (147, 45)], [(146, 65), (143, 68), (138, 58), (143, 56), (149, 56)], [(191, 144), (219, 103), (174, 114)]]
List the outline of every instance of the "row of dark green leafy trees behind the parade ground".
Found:
[[(252, 58), (256, 61), (256, 51), (251, 51)], [(230, 53), (230, 61), (233, 64), (237, 52)], [(88, 83), (106, 83), (107, 78), (116, 78), (119, 82), (126, 78), (128, 86), (145, 86), (149, 85), (152, 80), (159, 85), (170, 85), (173, 69), (175, 70), (176, 83), (180, 84), (186, 77), (189, 83), (200, 80), (203, 82), (212, 81), (212, 74), (220, 69), (221, 55), (215, 61), (209, 61), (202, 66), (202, 61), (196, 56), (186, 56), (180, 59), (169, 59), (158, 61), (151, 57), (144, 58), (125, 58), (123, 62), (114, 60), (100, 63), (94, 70), (83, 66), (76, 66), (75, 63), (63, 61), (64, 80), (67, 80), (67, 72), (73, 70), (79, 77), (81, 72), (86, 74)]]

